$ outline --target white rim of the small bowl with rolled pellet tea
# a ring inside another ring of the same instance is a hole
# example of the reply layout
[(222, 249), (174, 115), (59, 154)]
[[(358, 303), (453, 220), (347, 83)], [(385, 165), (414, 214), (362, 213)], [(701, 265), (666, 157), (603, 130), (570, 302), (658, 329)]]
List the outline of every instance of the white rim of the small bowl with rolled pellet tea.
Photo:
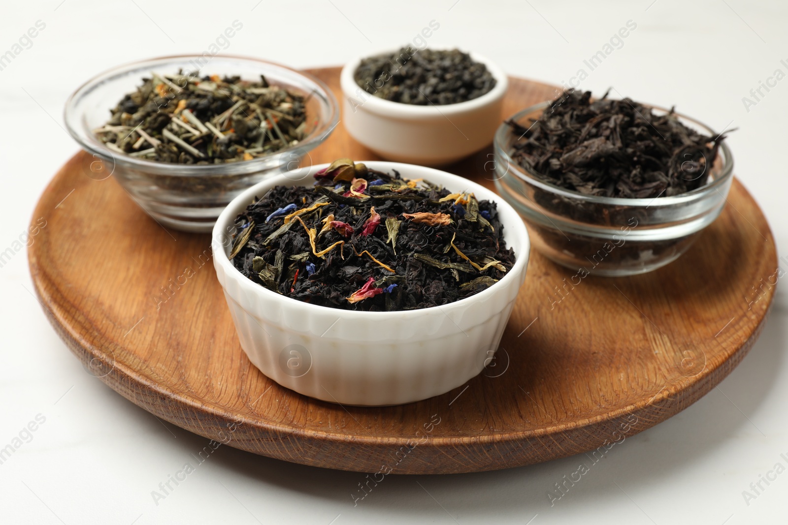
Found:
[[(355, 83), (353, 78), (355, 70), (359, 67), (361, 61), (368, 57), (374, 57), (381, 54), (396, 53), (400, 50), (383, 50), (378, 53), (365, 54), (361, 57), (356, 57), (344, 65), (340, 72), (340, 87), (344, 98), (352, 98), (358, 102), (359, 95), (366, 96), (359, 104), (359, 106), (368, 109), (372, 113), (377, 113), (383, 116), (391, 116), (396, 118), (444, 118), (456, 116), (460, 113), (469, 113), (476, 109), (480, 109), (485, 105), (497, 102), (504, 98), (509, 88), (509, 77), (503, 69), (499, 68), (495, 62), (489, 58), (474, 52), (467, 52), (473, 61), (484, 64), (492, 76), (496, 79), (496, 85), (490, 91), (477, 98), (471, 98), (464, 102), (455, 102), (454, 104), (429, 104), (429, 105), (414, 105), (405, 104), (403, 102), (393, 102), (385, 98), (376, 97), (374, 94), (367, 93), (359, 84)], [(431, 50), (451, 50), (459, 49), (457, 47), (431, 47)]]

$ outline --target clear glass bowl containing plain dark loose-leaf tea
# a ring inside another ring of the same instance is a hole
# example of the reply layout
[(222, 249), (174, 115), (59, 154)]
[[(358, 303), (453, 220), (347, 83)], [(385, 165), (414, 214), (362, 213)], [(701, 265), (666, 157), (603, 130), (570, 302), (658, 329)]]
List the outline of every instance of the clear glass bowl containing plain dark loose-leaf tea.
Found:
[[(511, 117), (530, 126), (549, 102)], [(651, 106), (655, 113), (666, 109)], [(689, 128), (716, 136), (708, 126), (677, 114)], [(635, 275), (675, 261), (719, 216), (733, 180), (725, 142), (709, 168), (708, 182), (671, 197), (612, 198), (585, 195), (542, 182), (512, 160), (517, 137), (508, 124), (496, 131), (496, 188), (528, 224), (533, 247), (548, 259), (585, 275)], [(577, 284), (577, 283), (574, 283)]]

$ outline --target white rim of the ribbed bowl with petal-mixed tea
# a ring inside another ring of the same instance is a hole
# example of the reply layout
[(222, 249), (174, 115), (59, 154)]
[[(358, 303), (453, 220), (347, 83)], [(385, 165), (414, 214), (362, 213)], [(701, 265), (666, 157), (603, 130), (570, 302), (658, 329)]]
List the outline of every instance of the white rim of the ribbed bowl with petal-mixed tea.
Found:
[[(481, 194), (485, 195), (485, 198), (482, 200), (494, 200), (498, 209), (505, 209), (506, 213), (511, 217), (516, 217), (519, 219), (519, 214), (517, 211), (507, 202), (504, 198), (500, 197), (500, 195), (496, 194), (494, 191), (489, 190), (481, 184), (474, 183), (474, 181), (466, 179), (465, 177), (457, 176), (452, 173), (443, 172), (441, 170), (435, 168), (427, 168), (426, 166), (421, 165), (410, 165), (403, 162), (389, 162), (389, 161), (356, 161), (359, 163), (363, 163), (370, 168), (377, 169), (378, 171), (391, 171), (392, 169), (396, 169), (400, 172), (401, 176), (406, 176), (407, 171), (412, 168), (417, 168), (417, 171), (422, 172), (432, 172), (433, 175), (444, 177), (449, 179), (452, 182), (467, 184), (468, 190), (473, 191), (474, 193), (481, 190)], [(517, 276), (521, 273), (526, 272), (528, 260), (530, 257), (530, 250), (531, 250), (531, 242), (530, 237), (528, 235), (528, 230), (526, 229), (526, 225), (522, 220), (513, 220), (511, 222), (502, 222), (504, 228), (508, 228), (507, 231), (511, 233), (508, 235), (512, 235), (513, 237), (519, 238), (520, 243), (522, 244), (521, 248), (515, 253), (515, 264), (512, 264), (511, 269), (501, 278), (498, 282), (492, 284), (491, 286), (485, 288), (485, 290), (481, 290), (478, 294), (473, 294), (470, 297), (459, 299), (458, 301), (450, 302), (446, 305), (438, 305), (438, 306), (429, 306), (427, 308), (419, 308), (419, 309), (412, 309), (412, 310), (394, 310), (391, 312), (366, 312), (366, 311), (359, 311), (359, 310), (346, 310), (346, 309), (339, 309), (333, 308), (331, 306), (324, 306), (324, 305), (314, 305), (312, 303), (308, 303), (306, 301), (299, 301), (295, 298), (289, 298), (281, 294), (277, 294), (272, 290), (269, 290), (266, 287), (262, 287), (258, 283), (252, 282), (246, 275), (243, 275), (236, 267), (230, 262), (228, 254), (225, 252), (225, 244), (222, 242), (222, 237), (225, 235), (229, 235), (229, 231), (233, 228), (233, 223), (235, 222), (236, 216), (238, 213), (236, 212), (235, 208), (239, 207), (239, 209), (243, 210), (246, 209), (248, 205), (250, 205), (253, 201), (255, 201), (255, 197), (257, 195), (264, 195), (271, 187), (279, 186), (282, 184), (288, 185), (299, 185), (304, 181), (313, 181), (314, 180), (314, 173), (318, 172), (322, 168), (327, 168), (330, 163), (325, 163), (321, 165), (314, 165), (310, 168), (306, 169), (304, 174), (300, 176), (298, 179), (293, 179), (292, 172), (283, 173), (281, 175), (273, 176), (269, 179), (262, 180), (261, 182), (255, 184), (252, 187), (247, 188), (244, 190), (243, 193), (233, 198), (230, 201), (229, 205), (221, 212), (219, 217), (216, 220), (216, 224), (214, 224), (214, 230), (211, 234), (211, 243), (210, 247), (214, 253), (214, 265), (218, 264), (221, 266), (221, 271), (225, 272), (225, 277), (234, 279), (236, 282), (242, 283), (241, 287), (247, 293), (255, 294), (258, 296), (259, 299), (264, 301), (284, 301), (286, 305), (292, 305), (296, 308), (306, 308), (310, 312), (314, 312), (314, 314), (331, 314), (333, 316), (340, 315), (338, 312), (341, 312), (342, 316), (345, 316), (348, 320), (362, 320), (365, 317), (375, 316), (378, 320), (385, 320), (387, 316), (400, 316), (404, 318), (411, 318), (425, 315), (425, 313), (432, 313), (432, 312), (443, 312), (446, 313), (447, 310), (452, 309), (462, 309), (470, 301), (481, 301), (485, 298), (489, 298), (492, 294), (497, 294), (500, 291), (504, 290), (504, 286), (510, 285), (513, 280), (517, 279)], [(422, 175), (420, 173), (419, 175)], [(294, 184), (295, 183), (295, 184)], [(307, 184), (307, 187), (309, 185)], [(491, 196), (492, 198), (488, 198)], [(240, 207), (243, 205), (243, 207)], [(504, 238), (507, 234), (504, 234)], [(511, 245), (508, 246), (511, 248)], [(217, 272), (219, 272), (219, 268), (217, 268)], [(220, 279), (221, 280), (221, 279)], [(519, 287), (522, 286), (522, 283), (518, 285)], [(226, 287), (222, 283), (222, 288)], [(242, 306), (243, 307), (243, 306)], [(244, 308), (245, 309), (245, 308)]]

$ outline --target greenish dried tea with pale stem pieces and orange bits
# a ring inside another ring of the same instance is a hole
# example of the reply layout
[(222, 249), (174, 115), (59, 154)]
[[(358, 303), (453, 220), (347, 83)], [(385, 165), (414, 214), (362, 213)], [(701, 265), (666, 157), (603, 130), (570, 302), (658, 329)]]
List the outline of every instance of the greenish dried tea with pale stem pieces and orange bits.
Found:
[(305, 135), (304, 98), (238, 76), (151, 73), (94, 132), (110, 150), (149, 161), (221, 164), (296, 145)]

